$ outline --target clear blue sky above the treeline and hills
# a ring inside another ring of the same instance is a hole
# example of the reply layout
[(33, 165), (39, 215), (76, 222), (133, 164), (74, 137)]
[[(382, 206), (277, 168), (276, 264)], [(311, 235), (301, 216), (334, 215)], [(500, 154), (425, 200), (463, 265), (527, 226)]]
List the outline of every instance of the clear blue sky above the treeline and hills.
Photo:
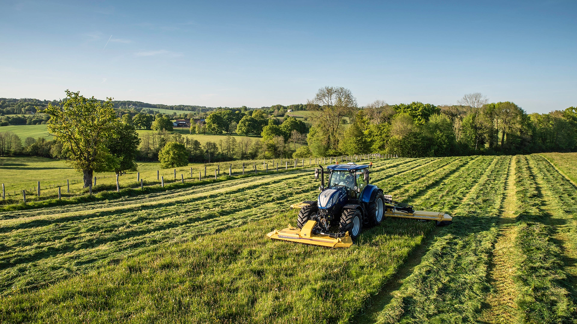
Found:
[(577, 105), (577, 1), (2, 1), (0, 97)]

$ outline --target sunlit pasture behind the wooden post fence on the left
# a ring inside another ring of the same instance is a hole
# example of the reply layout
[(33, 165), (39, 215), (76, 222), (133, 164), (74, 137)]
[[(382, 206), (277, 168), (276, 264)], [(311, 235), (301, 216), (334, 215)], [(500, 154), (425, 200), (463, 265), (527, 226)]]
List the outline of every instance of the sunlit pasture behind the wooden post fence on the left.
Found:
[[(302, 163), (303, 160), (299, 160), (297, 167), (302, 167)], [(276, 170), (276, 164), (279, 164), (281, 171), (285, 168), (294, 169), (295, 167), (294, 159), (237, 160), (207, 164), (191, 163), (186, 167), (170, 169), (160, 168), (160, 163), (158, 162), (138, 162), (137, 164), (138, 171), (127, 172), (119, 176), (119, 186), (121, 188), (139, 188), (138, 178), (144, 180), (145, 186), (158, 186), (162, 182), (162, 178), (164, 178), (164, 183), (181, 182), (182, 179), (190, 182), (198, 180), (199, 176), (202, 179), (214, 179), (215, 169), (220, 170), (220, 172), (217, 171), (219, 177), (228, 175), (229, 168), (231, 168), (231, 174), (242, 175), (243, 164), (245, 165), (245, 174), (254, 173), (253, 165), (258, 172)], [(305, 166), (309, 166), (309, 164), (314, 164), (314, 159), (306, 159)], [(93, 187), (95, 193), (116, 189), (116, 175), (113, 172), (98, 173), (94, 174), (94, 176), (96, 176), (96, 184)], [(70, 183), (70, 194), (67, 193), (67, 180)], [(87, 193), (87, 189), (83, 189), (83, 180), (80, 172), (74, 171), (64, 160), (30, 156), (0, 157), (0, 183), (5, 186), (6, 198), (8, 198), (9, 203), (21, 202), (22, 190), (27, 191), (28, 202), (37, 201), (38, 181), (40, 181), (42, 199), (58, 197), (58, 187), (61, 187), (62, 194), (65, 197)]]

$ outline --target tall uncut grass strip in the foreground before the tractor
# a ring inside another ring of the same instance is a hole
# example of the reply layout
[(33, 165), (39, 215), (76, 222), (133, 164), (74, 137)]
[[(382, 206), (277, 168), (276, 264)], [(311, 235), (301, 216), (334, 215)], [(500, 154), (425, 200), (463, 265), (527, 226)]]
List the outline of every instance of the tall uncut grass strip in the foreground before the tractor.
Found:
[(391, 221), (364, 232), (359, 244), (350, 249), (308, 247), (273, 242), (264, 236), (279, 225), (294, 222), (295, 212), (278, 214), (274, 210), (278, 204), (255, 206), (259, 209), (238, 218), (259, 211), (268, 214), (239, 228), (193, 236), (189, 239), (192, 243), (158, 244), (118, 265), (37, 292), (17, 292), (0, 301), (3, 319), (346, 321), (378, 291), (430, 228), (429, 223), (413, 220)]

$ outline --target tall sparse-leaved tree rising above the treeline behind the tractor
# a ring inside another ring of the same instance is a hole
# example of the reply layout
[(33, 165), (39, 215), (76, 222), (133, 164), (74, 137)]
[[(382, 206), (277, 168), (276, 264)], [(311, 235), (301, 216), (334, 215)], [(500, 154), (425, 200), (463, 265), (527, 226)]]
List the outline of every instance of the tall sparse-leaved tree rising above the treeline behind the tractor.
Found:
[(342, 120), (346, 116), (353, 116), (357, 108), (357, 99), (353, 93), (342, 86), (325, 86), (317, 91), (312, 100), (306, 100), (306, 104), (309, 110), (317, 112), (315, 126), (327, 135), (329, 147), (338, 149)]

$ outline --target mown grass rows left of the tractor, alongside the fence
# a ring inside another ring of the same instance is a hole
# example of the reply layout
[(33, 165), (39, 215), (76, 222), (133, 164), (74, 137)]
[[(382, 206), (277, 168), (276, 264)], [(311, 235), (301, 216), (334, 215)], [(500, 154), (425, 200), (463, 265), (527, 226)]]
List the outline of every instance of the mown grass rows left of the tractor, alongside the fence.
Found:
[[(386, 176), (411, 165), (398, 163), (375, 174)], [(165, 240), (200, 235), (207, 227), (218, 231), (266, 217), (293, 202), (314, 199), (318, 186), (309, 171), (233, 186), (238, 181), (212, 191), (205, 186), (194, 193), (186, 190), (133, 205), (114, 201), (100, 204), (100, 209), (78, 205), (63, 215), (31, 210), (23, 215), (26, 218), (4, 221), (0, 287), (37, 287)]]

